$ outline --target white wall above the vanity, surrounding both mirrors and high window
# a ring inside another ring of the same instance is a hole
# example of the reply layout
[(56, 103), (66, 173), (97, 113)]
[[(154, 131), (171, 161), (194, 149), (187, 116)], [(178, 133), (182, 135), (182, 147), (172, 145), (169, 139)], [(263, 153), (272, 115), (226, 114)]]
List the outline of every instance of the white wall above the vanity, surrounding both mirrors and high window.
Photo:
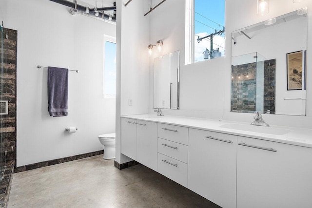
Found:
[[(211, 117), (224, 120), (252, 121), (250, 113), (230, 113), (231, 101), (231, 32), (240, 28), (270, 19), (303, 7), (312, 8), (312, 1), (292, 3), (292, 0), (270, 1), (270, 13), (264, 17), (256, 15), (256, 1), (226, 1), (226, 54), (225, 57), (184, 65), (185, 51), (185, 2), (181, 0), (165, 1), (152, 13), (150, 20), (150, 40), (163, 39), (161, 54), (150, 57), (150, 95), (149, 108), (153, 108), (153, 58), (181, 50), (180, 58), (180, 109), (164, 110), (166, 114)], [(173, 9), (174, 8), (174, 9)], [(309, 13), (309, 12), (308, 12)], [(312, 12), (308, 14), (308, 39), (312, 37)], [(264, 115), (264, 119), (275, 125), (295, 125), (312, 128), (312, 73), (309, 66), (307, 47), (307, 116)], [(286, 78), (286, 77), (285, 77)], [(309, 82), (310, 80), (310, 82)], [(149, 112), (152, 112), (151, 109)]]

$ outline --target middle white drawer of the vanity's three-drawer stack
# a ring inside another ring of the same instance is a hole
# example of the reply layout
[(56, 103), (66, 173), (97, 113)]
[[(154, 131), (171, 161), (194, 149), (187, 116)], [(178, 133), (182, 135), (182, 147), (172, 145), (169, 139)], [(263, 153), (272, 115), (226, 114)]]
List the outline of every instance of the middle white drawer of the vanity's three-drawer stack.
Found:
[(188, 161), (188, 146), (158, 138), (158, 152), (169, 157), (180, 160), (184, 163)]

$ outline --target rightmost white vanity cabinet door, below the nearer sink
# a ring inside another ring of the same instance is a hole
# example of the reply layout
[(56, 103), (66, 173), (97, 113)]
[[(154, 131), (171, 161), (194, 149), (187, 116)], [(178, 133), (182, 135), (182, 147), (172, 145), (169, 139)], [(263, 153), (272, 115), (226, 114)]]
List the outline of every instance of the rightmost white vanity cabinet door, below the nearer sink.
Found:
[(238, 137), (237, 208), (312, 208), (312, 149)]

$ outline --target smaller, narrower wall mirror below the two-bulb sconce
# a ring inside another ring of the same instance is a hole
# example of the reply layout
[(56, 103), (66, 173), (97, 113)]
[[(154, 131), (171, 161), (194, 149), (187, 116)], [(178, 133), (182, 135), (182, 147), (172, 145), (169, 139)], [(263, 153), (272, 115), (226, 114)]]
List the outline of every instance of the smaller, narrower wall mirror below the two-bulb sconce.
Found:
[(154, 108), (179, 109), (180, 51), (154, 59)]

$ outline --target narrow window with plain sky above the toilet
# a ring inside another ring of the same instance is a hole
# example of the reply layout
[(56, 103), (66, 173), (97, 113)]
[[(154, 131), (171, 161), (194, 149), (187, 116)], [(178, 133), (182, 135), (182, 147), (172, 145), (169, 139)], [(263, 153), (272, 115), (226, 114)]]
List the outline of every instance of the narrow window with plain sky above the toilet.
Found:
[(104, 97), (116, 97), (116, 38), (104, 36)]

